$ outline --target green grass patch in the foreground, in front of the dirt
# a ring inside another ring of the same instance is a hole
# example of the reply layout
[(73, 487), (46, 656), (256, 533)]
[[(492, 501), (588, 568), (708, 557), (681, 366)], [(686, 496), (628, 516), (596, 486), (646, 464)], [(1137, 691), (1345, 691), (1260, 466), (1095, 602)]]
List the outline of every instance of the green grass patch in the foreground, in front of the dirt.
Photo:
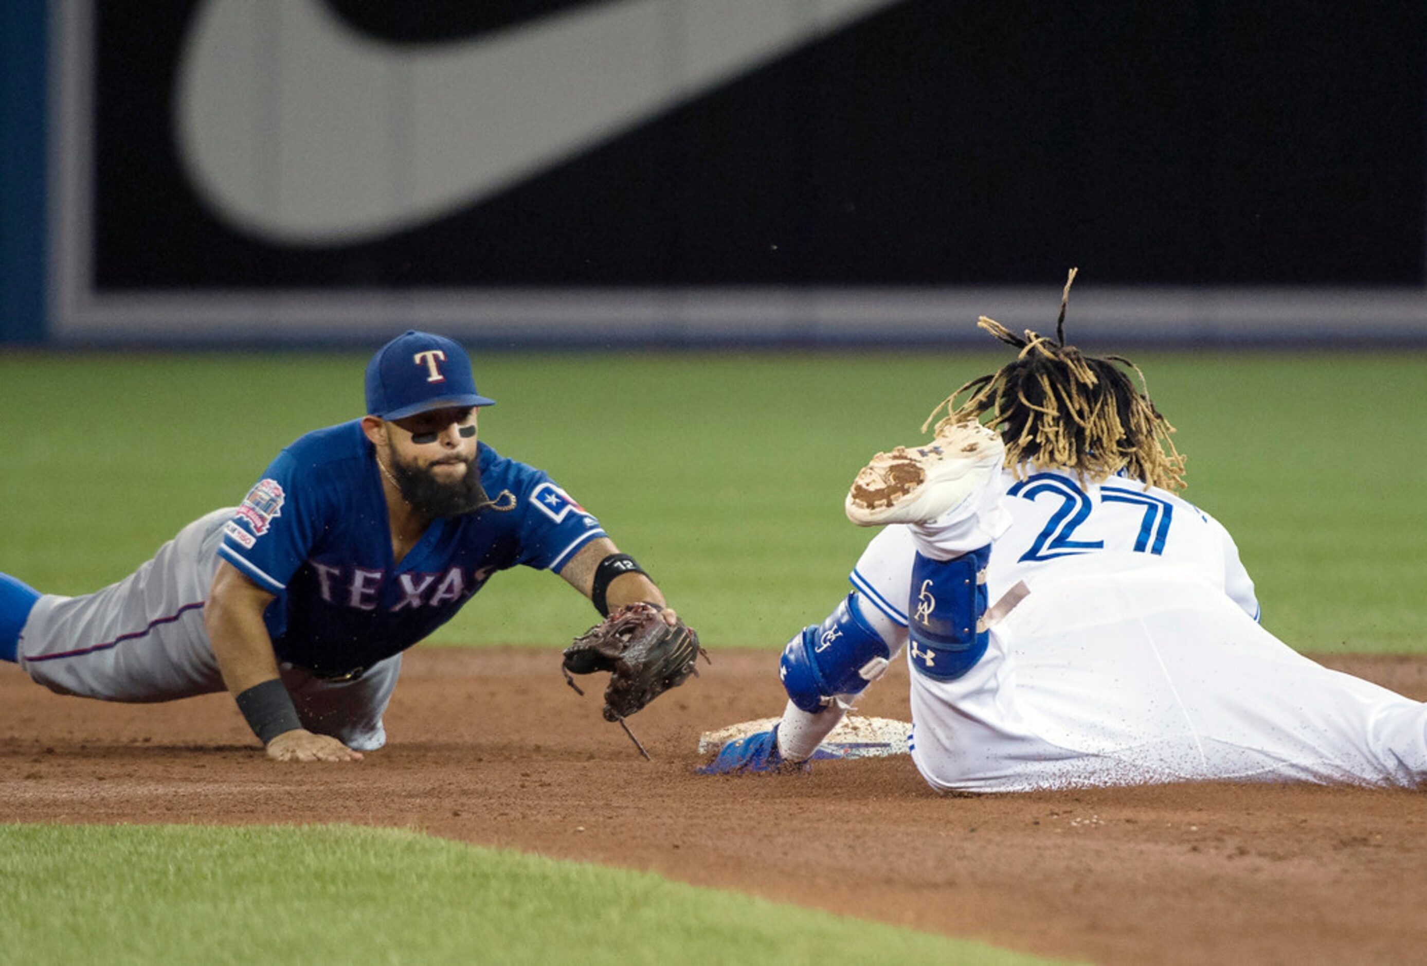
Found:
[(0, 962), (1047, 960), (395, 829), (0, 825)]

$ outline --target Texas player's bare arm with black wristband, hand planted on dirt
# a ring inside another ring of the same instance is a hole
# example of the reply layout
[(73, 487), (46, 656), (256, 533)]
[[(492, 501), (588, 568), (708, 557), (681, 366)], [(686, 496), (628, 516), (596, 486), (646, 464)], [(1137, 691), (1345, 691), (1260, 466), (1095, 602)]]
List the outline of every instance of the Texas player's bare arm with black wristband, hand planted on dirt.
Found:
[(273, 595), (245, 578), (227, 561), (218, 564), (203, 622), (213, 655), (248, 726), (280, 762), (347, 762), (361, 758), (335, 738), (314, 735), (297, 718), (293, 699), (278, 676), (273, 639), (263, 611)]

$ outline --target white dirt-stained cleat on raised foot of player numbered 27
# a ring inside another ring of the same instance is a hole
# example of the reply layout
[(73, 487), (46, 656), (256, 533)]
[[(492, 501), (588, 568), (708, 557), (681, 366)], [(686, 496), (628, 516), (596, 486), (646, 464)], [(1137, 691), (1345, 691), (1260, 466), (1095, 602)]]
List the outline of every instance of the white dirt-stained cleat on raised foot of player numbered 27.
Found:
[(879, 452), (852, 481), (845, 508), (859, 527), (936, 519), (997, 472), (1006, 448), (979, 422), (936, 431), (922, 447)]

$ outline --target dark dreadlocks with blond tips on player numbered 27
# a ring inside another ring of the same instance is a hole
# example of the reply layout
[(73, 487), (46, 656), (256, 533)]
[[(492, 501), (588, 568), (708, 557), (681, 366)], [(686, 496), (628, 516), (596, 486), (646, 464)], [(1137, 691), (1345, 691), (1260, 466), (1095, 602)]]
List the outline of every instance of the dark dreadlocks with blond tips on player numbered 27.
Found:
[[(980, 317), (977, 325), (1019, 351), (1016, 360), (990, 375), (966, 382), (943, 400), (922, 424), (925, 432), (945, 408), (936, 429), (980, 421), (1000, 434), (1006, 465), (1017, 477), (1032, 469), (1073, 469), (1083, 481), (1100, 482), (1122, 469), (1146, 488), (1184, 487), (1184, 457), (1170, 441), (1174, 427), (1150, 402), (1144, 374), (1127, 358), (1087, 357), (1065, 342), (1066, 304), (1076, 268), (1060, 297), (1055, 341), (1030, 331), (1015, 335), (1000, 322)], [(1124, 370), (1140, 378), (1136, 388)], [(969, 394), (958, 405), (958, 397)]]

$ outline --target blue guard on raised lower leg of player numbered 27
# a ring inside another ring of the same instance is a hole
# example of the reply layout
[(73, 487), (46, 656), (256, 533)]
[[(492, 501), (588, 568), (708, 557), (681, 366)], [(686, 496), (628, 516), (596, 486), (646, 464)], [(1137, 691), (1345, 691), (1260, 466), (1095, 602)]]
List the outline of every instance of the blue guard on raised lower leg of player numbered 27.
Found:
[(908, 656), (912, 669), (933, 681), (955, 681), (986, 654), (990, 641), (980, 621), (986, 614), (986, 562), (990, 545), (952, 561), (916, 555)]

